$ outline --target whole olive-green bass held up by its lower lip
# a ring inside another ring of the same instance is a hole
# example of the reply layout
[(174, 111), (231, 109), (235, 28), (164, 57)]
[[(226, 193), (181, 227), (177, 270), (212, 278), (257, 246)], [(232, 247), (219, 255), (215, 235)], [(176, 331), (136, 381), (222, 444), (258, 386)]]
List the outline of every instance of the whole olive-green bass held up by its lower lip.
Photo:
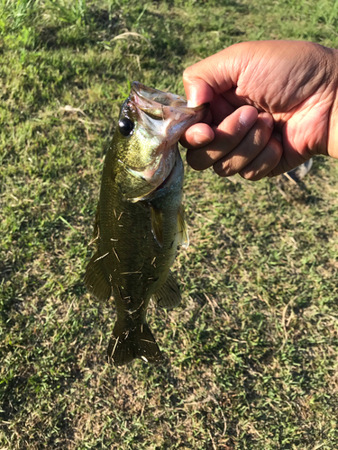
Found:
[(147, 323), (149, 303), (181, 302), (170, 271), (177, 247), (187, 247), (182, 201), (184, 167), (178, 139), (202, 121), (207, 104), (187, 107), (177, 95), (132, 82), (105, 156), (85, 284), (98, 302), (114, 298), (116, 322), (108, 361), (126, 365), (163, 356)]

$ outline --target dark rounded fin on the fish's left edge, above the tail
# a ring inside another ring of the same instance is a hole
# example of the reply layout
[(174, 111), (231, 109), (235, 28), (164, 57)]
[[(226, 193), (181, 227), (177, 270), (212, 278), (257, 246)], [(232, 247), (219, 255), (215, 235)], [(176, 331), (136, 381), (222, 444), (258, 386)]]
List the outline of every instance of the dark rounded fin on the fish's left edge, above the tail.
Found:
[(96, 297), (99, 302), (109, 300), (112, 293), (112, 287), (105, 273), (103, 257), (100, 257), (98, 251), (91, 258), (86, 268), (85, 284), (89, 293)]

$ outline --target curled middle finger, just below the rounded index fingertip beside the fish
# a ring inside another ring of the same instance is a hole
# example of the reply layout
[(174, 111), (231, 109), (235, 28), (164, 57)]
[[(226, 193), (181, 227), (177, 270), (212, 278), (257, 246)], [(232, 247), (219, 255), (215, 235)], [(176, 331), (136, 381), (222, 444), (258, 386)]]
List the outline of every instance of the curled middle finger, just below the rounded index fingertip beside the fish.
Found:
[(215, 139), (212, 142), (202, 148), (187, 150), (187, 163), (195, 170), (213, 166), (238, 146), (257, 118), (258, 112), (253, 106), (239, 108), (214, 128)]

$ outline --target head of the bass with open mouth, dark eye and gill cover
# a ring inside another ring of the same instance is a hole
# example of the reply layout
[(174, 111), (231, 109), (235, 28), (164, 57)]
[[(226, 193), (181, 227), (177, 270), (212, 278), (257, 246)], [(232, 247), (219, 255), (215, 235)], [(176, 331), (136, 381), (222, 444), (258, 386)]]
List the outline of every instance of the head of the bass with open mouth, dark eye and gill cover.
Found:
[(126, 199), (137, 202), (166, 180), (175, 165), (178, 139), (205, 114), (206, 105), (188, 108), (179, 95), (132, 83), (114, 134), (116, 182)]

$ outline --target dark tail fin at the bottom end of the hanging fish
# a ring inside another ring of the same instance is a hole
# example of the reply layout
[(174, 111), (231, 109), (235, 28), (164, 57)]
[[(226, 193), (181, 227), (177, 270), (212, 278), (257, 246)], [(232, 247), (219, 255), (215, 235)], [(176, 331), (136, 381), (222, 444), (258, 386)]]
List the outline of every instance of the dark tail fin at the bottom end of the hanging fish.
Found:
[(163, 360), (147, 323), (139, 323), (133, 329), (126, 329), (122, 322), (117, 321), (107, 354), (108, 361), (114, 365), (126, 365), (135, 358), (154, 364)]

